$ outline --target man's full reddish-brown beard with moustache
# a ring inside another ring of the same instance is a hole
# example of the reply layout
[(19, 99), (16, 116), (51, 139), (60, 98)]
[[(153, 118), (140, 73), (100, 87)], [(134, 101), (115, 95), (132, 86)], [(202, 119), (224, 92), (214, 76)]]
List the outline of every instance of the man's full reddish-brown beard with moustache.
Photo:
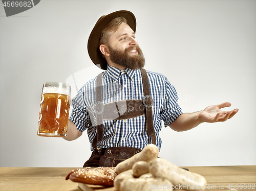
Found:
[[(138, 54), (131, 55), (131, 50), (133, 50), (135, 47)], [(133, 45), (125, 49), (124, 51), (114, 50), (112, 49), (111, 46), (109, 46), (109, 51), (110, 51), (110, 60), (115, 64), (124, 66), (125, 68), (130, 68), (130, 69), (139, 69), (144, 67), (145, 58), (138, 45)]]

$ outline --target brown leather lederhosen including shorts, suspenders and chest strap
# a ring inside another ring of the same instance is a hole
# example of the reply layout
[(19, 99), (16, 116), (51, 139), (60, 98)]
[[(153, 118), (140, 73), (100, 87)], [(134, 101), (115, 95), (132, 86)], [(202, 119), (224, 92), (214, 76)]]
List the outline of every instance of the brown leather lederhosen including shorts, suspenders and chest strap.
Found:
[[(94, 109), (97, 122), (97, 133), (92, 143), (94, 150), (92, 152), (90, 159), (84, 163), (83, 167), (116, 166), (119, 162), (127, 158), (130, 158), (141, 151), (140, 149), (131, 147), (111, 147), (106, 149), (97, 148), (97, 142), (103, 140), (103, 119), (125, 120), (145, 114), (147, 134), (151, 136), (152, 144), (156, 144), (156, 134), (154, 130), (152, 113), (153, 100), (152, 97), (150, 96), (150, 86), (148, 83), (146, 70), (143, 68), (141, 69), (144, 91), (143, 100), (122, 100), (104, 105), (102, 103), (101, 89), (102, 74), (103, 73), (99, 74), (96, 79), (96, 100), (94, 104)], [(140, 109), (135, 109), (137, 107), (139, 107)], [(116, 117), (116, 114), (118, 114), (118, 117)]]

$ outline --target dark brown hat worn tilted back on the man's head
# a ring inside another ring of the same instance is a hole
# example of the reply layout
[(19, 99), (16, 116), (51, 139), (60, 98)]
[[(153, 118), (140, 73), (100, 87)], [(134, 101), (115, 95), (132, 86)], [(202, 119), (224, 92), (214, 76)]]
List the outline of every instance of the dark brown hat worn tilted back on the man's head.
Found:
[(101, 69), (106, 69), (108, 63), (103, 58), (100, 50), (99, 50), (99, 38), (101, 35), (101, 31), (105, 28), (105, 26), (114, 18), (122, 16), (127, 20), (127, 24), (131, 27), (131, 29), (135, 32), (136, 31), (136, 18), (134, 14), (130, 11), (116, 11), (110, 13), (108, 15), (102, 16), (96, 25), (94, 26), (87, 44), (87, 49), (89, 56), (93, 63)]

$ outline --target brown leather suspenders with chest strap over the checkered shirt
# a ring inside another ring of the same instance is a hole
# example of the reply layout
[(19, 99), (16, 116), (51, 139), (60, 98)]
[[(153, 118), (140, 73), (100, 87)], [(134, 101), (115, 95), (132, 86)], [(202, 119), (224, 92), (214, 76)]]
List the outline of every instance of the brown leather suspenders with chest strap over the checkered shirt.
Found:
[[(92, 146), (97, 149), (97, 142), (103, 140), (103, 119), (121, 120), (133, 118), (146, 114), (147, 134), (152, 138), (152, 144), (156, 144), (156, 134), (153, 122), (152, 105), (153, 99), (150, 96), (150, 86), (145, 69), (141, 69), (144, 97), (143, 100), (123, 100), (103, 105), (102, 103), (102, 74), (97, 76), (94, 110), (97, 121), (97, 133), (93, 139)], [(125, 108), (124, 108), (125, 106)], [(140, 109), (136, 109), (139, 106)], [(141, 109), (144, 107), (144, 109)]]

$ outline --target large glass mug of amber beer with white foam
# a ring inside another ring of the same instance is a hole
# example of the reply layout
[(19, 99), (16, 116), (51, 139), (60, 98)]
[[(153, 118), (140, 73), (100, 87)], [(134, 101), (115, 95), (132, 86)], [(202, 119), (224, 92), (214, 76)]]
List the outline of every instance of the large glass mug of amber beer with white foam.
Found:
[(46, 82), (42, 86), (37, 135), (67, 137), (71, 86)]

